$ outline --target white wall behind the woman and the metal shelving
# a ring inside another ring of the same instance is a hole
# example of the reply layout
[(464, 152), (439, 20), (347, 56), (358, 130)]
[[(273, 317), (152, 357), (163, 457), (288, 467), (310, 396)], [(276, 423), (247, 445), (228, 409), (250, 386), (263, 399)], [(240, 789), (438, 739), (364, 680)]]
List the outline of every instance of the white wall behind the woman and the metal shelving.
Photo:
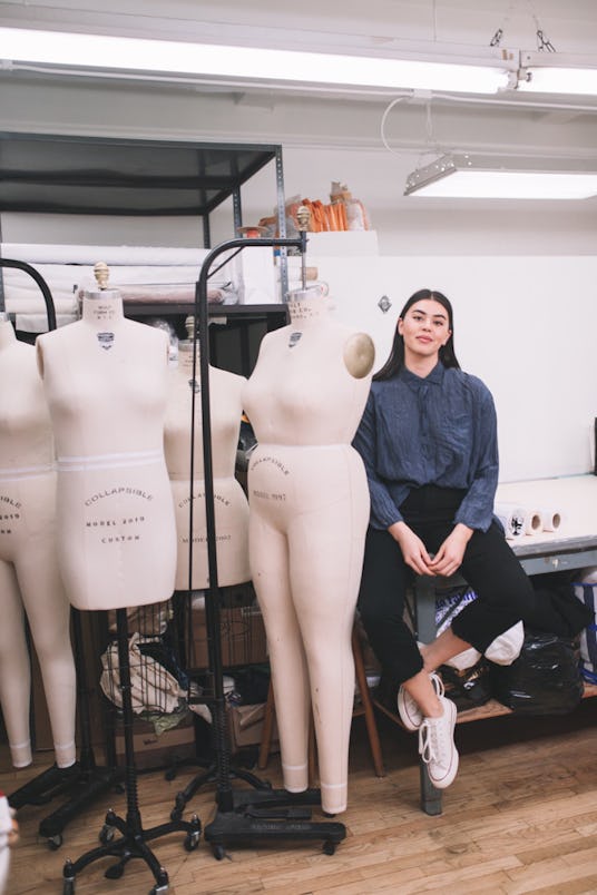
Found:
[[(369, 209), (381, 257), (325, 262), (307, 256), (320, 263), (336, 301), (362, 309), (365, 299), (376, 304), (386, 293), (398, 312), (423, 285), (446, 292), (456, 307), (461, 363), (496, 396), (502, 479), (589, 470), (589, 429), (597, 415), (597, 200), (444, 205), (404, 198), (407, 174), (421, 160), (421, 108), (392, 119), (392, 138), (402, 142), (400, 151), (390, 153), (380, 141), (379, 104), (266, 97), (258, 102), (155, 86), (41, 87), (18, 79), (4, 81), (2, 89), (6, 130), (281, 142), (287, 196), (326, 200), (331, 181), (345, 181)], [(597, 116), (519, 115), (517, 127), (505, 129), (482, 109), (453, 114), (450, 134), (462, 135), (467, 144), (518, 139), (558, 151), (597, 145)], [(448, 124), (438, 110), (438, 139), (448, 134)], [(271, 165), (243, 190), (245, 223), (271, 214), (275, 203)], [(4, 242), (195, 246), (202, 238), (197, 222), (180, 218), (7, 214), (1, 225)], [(228, 204), (213, 216), (213, 242), (228, 238), (231, 227)], [(363, 317), (365, 328), (378, 319), (373, 314)]]

